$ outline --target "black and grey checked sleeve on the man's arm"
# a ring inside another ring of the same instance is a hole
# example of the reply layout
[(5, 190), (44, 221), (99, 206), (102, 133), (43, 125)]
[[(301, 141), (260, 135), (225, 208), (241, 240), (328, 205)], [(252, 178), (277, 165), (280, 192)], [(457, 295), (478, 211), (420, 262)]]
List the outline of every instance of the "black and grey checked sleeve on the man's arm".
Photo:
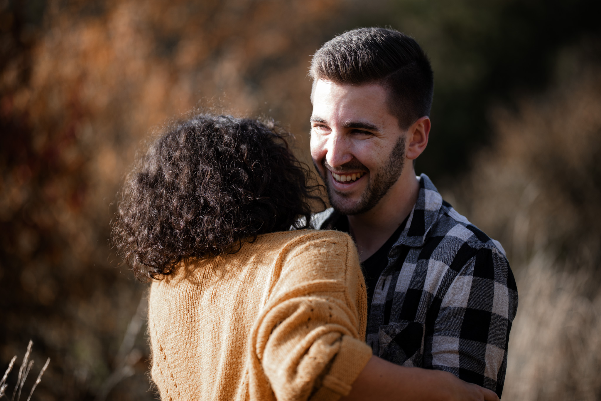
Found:
[(479, 249), (436, 298), (439, 305), (428, 317), (433, 321), (426, 322), (432, 329), (426, 332), (425, 367), (454, 373), (501, 397), (517, 311), (517, 288), (507, 259), (496, 248)]

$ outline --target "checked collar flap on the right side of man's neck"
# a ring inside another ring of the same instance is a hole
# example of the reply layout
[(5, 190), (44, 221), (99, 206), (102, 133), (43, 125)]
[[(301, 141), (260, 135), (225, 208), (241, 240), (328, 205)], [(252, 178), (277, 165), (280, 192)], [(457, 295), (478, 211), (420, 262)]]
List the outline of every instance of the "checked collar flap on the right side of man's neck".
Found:
[(395, 245), (423, 246), (427, 234), (438, 221), (441, 207), (441, 194), (438, 193), (428, 176), (421, 174), (417, 201), (409, 213), (405, 229)]

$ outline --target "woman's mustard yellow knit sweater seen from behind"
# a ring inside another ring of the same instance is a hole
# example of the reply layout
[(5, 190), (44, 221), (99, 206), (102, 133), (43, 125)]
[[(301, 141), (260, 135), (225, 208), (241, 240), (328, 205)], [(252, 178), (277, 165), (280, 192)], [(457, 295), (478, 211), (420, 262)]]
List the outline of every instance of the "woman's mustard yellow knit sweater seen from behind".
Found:
[(263, 234), (152, 284), (152, 378), (163, 401), (337, 400), (371, 357), (366, 319), (347, 234)]

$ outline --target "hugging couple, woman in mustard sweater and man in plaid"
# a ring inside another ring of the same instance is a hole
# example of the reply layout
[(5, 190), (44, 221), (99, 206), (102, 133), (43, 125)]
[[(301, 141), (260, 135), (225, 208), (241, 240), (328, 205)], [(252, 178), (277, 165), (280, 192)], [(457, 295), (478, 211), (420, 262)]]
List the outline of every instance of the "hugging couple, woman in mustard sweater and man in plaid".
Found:
[(498, 400), (516, 284), (501, 244), (415, 175), (426, 54), (355, 29), (310, 75), (331, 208), (282, 127), (225, 115), (166, 130), (124, 183), (114, 242), (153, 281), (161, 399)]

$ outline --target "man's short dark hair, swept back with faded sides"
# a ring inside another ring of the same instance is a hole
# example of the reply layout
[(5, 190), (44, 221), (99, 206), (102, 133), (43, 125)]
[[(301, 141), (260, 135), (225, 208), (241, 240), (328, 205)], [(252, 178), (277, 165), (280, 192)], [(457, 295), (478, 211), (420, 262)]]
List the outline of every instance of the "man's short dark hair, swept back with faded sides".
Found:
[(382, 85), (401, 129), (430, 115), (434, 90), (430, 61), (412, 37), (394, 29), (359, 28), (333, 38), (313, 55), (310, 76), (314, 88), (318, 79)]

